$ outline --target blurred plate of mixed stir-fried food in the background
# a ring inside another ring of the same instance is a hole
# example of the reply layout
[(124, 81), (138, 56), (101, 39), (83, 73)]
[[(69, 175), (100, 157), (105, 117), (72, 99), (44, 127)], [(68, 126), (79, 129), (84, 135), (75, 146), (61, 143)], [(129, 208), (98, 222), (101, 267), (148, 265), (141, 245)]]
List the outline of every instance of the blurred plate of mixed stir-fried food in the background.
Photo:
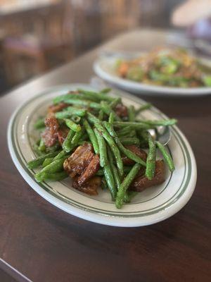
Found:
[(209, 62), (180, 49), (125, 57), (111, 52), (96, 59), (94, 71), (110, 84), (136, 94), (205, 95), (211, 94)]

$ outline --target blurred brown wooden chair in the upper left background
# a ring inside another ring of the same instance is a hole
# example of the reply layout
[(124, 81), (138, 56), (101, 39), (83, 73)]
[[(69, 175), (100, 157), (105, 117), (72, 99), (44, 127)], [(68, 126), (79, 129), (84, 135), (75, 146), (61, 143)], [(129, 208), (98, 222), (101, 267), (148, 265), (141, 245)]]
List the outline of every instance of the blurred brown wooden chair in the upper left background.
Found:
[(14, 84), (43, 73), (74, 56), (72, 30), (65, 24), (70, 11), (68, 8), (67, 13), (67, 2), (63, 2), (28, 13), (23, 18), (17, 16), (20, 23), (17, 29), (9, 23), (11, 30), (3, 43), (8, 82)]

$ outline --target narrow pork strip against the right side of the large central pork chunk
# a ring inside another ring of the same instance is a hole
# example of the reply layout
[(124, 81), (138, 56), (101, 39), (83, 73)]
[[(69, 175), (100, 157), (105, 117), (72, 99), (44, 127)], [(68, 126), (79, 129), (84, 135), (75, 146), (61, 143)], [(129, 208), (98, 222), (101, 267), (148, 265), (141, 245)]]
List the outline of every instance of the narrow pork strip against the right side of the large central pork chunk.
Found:
[(98, 154), (96, 154), (94, 158), (90, 161), (84, 173), (82, 173), (82, 175), (79, 176), (79, 178), (77, 179), (77, 183), (79, 184), (79, 186), (83, 186), (84, 183), (91, 178), (91, 176), (95, 175), (95, 173), (98, 171), (99, 168), (100, 168), (100, 158)]

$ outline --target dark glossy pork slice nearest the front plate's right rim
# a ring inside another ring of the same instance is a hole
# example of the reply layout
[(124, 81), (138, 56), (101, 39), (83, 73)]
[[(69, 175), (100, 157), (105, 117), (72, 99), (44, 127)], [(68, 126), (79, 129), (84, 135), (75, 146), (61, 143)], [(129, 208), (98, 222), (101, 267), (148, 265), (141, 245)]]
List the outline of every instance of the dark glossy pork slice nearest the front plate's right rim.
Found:
[(156, 161), (155, 176), (152, 180), (148, 180), (145, 175), (138, 176), (130, 186), (130, 190), (141, 192), (146, 188), (159, 185), (165, 181), (165, 164), (164, 161)]

